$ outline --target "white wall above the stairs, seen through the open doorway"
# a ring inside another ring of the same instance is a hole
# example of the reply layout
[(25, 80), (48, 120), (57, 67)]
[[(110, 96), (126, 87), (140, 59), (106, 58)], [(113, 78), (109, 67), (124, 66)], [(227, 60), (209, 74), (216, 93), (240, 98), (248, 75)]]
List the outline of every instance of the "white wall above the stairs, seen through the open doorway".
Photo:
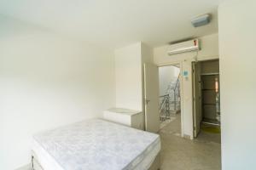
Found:
[(179, 68), (168, 65), (159, 67), (159, 91), (160, 96), (166, 94), (166, 90), (171, 82), (177, 80)]

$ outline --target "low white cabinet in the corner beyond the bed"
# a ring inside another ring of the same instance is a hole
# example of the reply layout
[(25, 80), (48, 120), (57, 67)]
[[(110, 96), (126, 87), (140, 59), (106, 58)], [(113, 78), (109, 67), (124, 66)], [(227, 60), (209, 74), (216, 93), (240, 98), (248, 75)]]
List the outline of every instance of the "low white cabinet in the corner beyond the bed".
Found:
[(104, 111), (103, 117), (104, 119), (110, 122), (117, 122), (129, 127), (134, 127), (142, 130), (144, 128), (142, 111), (133, 111), (122, 108), (111, 108), (108, 109), (108, 111)]

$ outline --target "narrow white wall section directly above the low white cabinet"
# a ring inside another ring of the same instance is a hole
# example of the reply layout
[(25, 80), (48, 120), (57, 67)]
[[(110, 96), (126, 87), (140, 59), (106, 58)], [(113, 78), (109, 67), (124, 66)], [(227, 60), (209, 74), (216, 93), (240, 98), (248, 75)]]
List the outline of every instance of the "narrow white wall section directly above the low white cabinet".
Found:
[(143, 111), (141, 42), (115, 50), (116, 107)]

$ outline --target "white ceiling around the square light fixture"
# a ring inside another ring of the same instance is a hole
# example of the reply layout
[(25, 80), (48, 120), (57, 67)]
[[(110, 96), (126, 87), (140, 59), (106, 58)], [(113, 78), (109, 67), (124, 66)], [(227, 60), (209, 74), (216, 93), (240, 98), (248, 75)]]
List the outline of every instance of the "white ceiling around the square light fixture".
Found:
[[(218, 32), (221, 0), (1, 0), (0, 14), (106, 48), (133, 42), (158, 47)], [(190, 20), (212, 14), (207, 26)]]

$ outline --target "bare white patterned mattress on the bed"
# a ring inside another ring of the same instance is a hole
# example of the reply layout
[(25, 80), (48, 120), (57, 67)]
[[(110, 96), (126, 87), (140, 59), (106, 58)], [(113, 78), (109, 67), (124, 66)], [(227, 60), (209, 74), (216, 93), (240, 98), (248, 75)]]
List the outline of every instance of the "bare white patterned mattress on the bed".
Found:
[(159, 152), (158, 134), (99, 119), (38, 133), (32, 144), (44, 170), (146, 170)]

